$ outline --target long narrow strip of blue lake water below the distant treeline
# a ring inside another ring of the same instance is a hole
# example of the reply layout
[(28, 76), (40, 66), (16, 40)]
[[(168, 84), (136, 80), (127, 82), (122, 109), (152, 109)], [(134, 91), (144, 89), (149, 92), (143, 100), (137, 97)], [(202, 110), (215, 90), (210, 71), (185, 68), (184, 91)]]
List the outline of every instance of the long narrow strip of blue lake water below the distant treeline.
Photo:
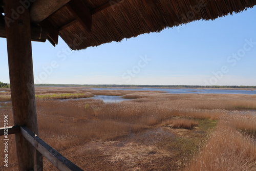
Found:
[(142, 88), (142, 89), (111, 89), (92, 88), (93, 90), (132, 90), (132, 91), (164, 91), (171, 94), (256, 94), (256, 90), (225, 90), (225, 89), (162, 89), (162, 88)]

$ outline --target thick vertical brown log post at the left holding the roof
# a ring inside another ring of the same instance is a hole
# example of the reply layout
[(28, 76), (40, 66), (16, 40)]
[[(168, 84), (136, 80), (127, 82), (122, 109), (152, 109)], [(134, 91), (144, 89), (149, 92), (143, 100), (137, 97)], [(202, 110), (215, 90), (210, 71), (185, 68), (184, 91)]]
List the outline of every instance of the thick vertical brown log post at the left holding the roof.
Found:
[[(4, 0), (13, 119), (38, 135), (29, 7), (20, 2)], [(21, 133), (15, 134), (15, 141), (19, 170), (42, 170), (39, 152)]]

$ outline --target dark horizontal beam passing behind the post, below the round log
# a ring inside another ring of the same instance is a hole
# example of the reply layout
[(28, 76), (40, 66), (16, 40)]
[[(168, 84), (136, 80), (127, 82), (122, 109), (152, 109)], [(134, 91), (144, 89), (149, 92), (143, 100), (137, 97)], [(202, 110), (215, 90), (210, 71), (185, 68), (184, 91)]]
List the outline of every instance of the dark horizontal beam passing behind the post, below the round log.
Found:
[[(31, 40), (45, 42), (48, 36), (47, 29), (44, 29), (39, 26), (31, 26)], [(0, 37), (6, 38), (6, 29), (5, 24), (0, 23)]]

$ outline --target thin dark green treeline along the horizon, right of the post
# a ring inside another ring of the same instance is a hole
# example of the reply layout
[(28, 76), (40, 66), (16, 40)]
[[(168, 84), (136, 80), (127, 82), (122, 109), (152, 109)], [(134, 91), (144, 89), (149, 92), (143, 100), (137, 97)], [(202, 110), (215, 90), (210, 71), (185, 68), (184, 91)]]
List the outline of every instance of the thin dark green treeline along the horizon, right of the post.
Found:
[(38, 87), (93, 87), (93, 88), (212, 88), (212, 89), (256, 89), (256, 86), (186, 86), (186, 85), (173, 85), (173, 86), (161, 86), (161, 85), (117, 85), (117, 84), (35, 84)]

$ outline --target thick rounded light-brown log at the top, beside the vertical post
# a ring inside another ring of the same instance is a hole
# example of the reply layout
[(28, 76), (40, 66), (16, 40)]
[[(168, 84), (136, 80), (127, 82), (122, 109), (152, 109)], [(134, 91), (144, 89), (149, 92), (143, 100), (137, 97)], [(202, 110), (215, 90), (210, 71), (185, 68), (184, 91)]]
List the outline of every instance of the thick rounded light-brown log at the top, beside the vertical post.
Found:
[(34, 3), (30, 8), (31, 21), (35, 24), (40, 23), (69, 1), (70, 0), (33, 0)]

